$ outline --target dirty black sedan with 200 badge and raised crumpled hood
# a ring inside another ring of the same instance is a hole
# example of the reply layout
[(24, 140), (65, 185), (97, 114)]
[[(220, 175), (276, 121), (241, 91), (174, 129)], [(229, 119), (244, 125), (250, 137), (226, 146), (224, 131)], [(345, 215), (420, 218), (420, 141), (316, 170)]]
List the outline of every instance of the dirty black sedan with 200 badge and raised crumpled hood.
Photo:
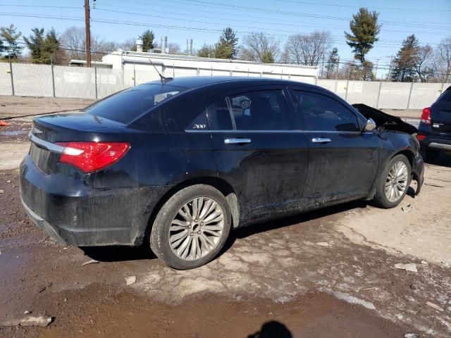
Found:
[(416, 130), (356, 108), (285, 80), (142, 84), (82, 113), (35, 118), (23, 206), (64, 244), (147, 239), (171, 267), (195, 268), (233, 228), (357, 199), (393, 208), (412, 179), (418, 193)]

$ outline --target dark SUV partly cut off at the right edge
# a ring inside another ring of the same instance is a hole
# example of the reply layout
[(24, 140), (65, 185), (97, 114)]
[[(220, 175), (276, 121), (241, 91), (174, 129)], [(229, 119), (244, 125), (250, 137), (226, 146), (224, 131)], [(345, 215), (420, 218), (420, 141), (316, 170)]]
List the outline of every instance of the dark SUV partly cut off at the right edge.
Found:
[(440, 151), (451, 151), (451, 87), (423, 109), (417, 138), (426, 161), (435, 159)]

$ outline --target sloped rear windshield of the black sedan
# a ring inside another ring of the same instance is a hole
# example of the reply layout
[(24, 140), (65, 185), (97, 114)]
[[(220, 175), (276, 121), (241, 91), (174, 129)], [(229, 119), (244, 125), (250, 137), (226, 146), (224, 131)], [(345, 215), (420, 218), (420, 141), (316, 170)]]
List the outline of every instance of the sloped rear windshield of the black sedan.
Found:
[(185, 91), (185, 88), (161, 84), (141, 84), (99, 101), (86, 113), (128, 124), (160, 102)]

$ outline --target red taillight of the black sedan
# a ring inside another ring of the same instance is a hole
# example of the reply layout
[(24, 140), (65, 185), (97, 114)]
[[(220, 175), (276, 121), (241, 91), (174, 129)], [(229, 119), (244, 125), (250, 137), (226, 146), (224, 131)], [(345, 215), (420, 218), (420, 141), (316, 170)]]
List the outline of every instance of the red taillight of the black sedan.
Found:
[(108, 167), (123, 157), (130, 144), (125, 142), (56, 142), (64, 146), (61, 163), (73, 165), (84, 173)]

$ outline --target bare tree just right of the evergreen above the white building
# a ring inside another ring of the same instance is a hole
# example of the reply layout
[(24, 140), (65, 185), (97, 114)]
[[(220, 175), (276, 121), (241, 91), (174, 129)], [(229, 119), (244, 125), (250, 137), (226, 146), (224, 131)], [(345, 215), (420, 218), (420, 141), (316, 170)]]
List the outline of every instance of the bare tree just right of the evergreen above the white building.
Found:
[(242, 41), (240, 58), (243, 60), (273, 63), (278, 59), (280, 54), (278, 39), (263, 32), (254, 32), (245, 36)]

